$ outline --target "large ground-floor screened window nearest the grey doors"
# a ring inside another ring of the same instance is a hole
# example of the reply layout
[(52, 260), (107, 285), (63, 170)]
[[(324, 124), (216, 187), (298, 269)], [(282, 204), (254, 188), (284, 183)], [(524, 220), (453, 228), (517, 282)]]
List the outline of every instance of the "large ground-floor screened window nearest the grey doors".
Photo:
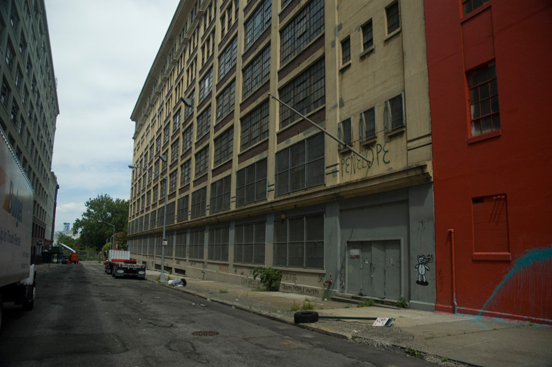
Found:
[(274, 265), (324, 268), (324, 215), (274, 222)]

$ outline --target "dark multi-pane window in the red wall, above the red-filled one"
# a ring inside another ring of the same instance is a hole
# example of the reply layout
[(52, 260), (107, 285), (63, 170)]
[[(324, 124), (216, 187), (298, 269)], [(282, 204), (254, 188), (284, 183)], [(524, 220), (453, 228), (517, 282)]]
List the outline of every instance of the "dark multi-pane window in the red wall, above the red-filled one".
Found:
[(498, 113), (498, 85), (495, 63), (468, 74), (470, 93), (471, 136), (500, 130)]

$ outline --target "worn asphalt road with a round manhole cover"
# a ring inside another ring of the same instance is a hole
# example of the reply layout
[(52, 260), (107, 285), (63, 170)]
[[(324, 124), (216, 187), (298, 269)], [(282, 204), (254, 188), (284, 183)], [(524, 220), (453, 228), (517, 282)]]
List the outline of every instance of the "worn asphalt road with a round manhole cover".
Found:
[(37, 279), (34, 310), (6, 307), (0, 366), (435, 366), (209, 302), (95, 263)]

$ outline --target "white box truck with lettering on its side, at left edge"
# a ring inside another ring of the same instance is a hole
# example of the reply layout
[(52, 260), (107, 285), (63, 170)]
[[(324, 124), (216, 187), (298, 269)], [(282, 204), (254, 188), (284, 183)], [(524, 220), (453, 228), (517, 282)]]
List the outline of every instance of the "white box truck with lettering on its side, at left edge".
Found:
[(30, 181), (0, 128), (0, 325), (4, 302), (34, 306), (36, 272), (30, 264), (32, 206)]

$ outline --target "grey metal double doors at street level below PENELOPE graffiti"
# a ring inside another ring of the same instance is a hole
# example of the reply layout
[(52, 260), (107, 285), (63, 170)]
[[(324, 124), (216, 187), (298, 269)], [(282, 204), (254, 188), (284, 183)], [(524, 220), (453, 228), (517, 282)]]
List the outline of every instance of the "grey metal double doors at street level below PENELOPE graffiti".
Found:
[(347, 292), (397, 299), (401, 290), (399, 239), (347, 244)]

